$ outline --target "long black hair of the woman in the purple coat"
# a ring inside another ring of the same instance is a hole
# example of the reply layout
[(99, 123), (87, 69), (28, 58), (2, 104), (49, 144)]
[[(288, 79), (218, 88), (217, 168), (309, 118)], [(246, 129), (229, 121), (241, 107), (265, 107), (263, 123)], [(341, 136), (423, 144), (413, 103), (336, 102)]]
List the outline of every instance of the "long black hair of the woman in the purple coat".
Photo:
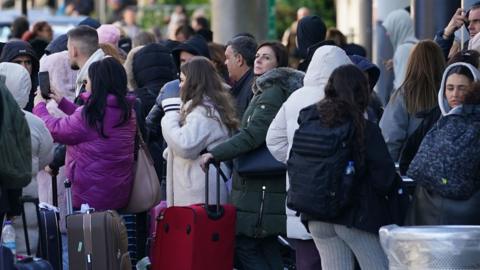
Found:
[(108, 95), (117, 98), (117, 105), (122, 111), (120, 121), (114, 127), (126, 123), (131, 116), (131, 105), (126, 97), (127, 74), (118, 60), (106, 57), (90, 65), (88, 77), (92, 93), (83, 107), (82, 114), (88, 126), (95, 128), (103, 138), (108, 138), (103, 128)]

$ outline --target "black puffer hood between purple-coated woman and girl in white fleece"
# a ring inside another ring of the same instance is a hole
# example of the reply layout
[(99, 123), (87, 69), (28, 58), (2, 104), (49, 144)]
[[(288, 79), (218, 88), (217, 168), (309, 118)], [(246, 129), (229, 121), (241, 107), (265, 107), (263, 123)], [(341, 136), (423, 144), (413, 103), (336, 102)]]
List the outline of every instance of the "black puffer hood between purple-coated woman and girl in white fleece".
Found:
[(160, 88), (176, 79), (176, 66), (167, 47), (157, 43), (144, 46), (133, 56), (132, 72), (137, 87)]

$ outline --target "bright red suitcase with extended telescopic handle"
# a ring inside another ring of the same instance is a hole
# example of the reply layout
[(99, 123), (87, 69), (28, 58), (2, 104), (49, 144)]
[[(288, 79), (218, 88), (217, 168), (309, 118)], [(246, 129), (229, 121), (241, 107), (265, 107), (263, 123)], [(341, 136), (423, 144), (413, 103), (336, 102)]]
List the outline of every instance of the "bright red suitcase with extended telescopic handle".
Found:
[[(152, 258), (153, 270), (232, 270), (236, 211), (220, 205), (217, 168), (217, 204), (169, 207), (158, 217)], [(208, 202), (208, 171), (205, 174)]]

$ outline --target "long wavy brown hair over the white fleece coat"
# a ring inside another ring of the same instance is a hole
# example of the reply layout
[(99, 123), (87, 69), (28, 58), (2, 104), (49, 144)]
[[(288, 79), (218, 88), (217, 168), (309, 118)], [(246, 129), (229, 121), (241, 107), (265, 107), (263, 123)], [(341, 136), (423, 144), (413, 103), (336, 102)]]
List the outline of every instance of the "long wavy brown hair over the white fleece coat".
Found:
[[(191, 100), (190, 106), (182, 111), (181, 121), (193, 111), (196, 106), (205, 106), (204, 98), (211, 99), (215, 109), (220, 114), (221, 122), (230, 131), (238, 128), (239, 121), (235, 114), (235, 105), (230, 93), (222, 85), (222, 79), (215, 66), (203, 56), (194, 56), (180, 67), (186, 80), (180, 90), (180, 98), (185, 103)], [(214, 115), (209, 115), (216, 118)]]

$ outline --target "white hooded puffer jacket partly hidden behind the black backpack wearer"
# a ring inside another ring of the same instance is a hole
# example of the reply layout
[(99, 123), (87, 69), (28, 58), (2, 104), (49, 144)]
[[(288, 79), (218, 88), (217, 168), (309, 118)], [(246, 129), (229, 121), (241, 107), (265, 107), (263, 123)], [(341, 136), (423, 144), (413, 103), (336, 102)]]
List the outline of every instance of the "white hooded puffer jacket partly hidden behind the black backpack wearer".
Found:
[[(267, 132), (267, 146), (279, 161), (287, 163), (293, 135), (298, 128), (298, 114), (301, 109), (312, 105), (324, 97), (324, 88), (333, 70), (339, 66), (352, 64), (345, 51), (336, 46), (322, 46), (315, 51), (303, 79), (304, 86), (290, 95), (273, 119)], [(287, 190), (289, 187), (287, 175)], [(295, 239), (311, 239), (300, 218), (286, 208), (287, 236)]]

